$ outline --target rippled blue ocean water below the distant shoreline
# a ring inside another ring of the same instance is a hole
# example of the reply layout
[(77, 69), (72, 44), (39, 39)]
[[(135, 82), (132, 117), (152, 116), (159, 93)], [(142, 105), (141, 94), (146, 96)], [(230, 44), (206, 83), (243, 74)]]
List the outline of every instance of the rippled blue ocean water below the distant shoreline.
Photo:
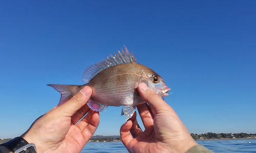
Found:
[[(197, 143), (214, 152), (256, 152), (256, 140), (203, 140)], [(92, 142), (87, 143), (81, 152), (128, 152), (122, 142)]]

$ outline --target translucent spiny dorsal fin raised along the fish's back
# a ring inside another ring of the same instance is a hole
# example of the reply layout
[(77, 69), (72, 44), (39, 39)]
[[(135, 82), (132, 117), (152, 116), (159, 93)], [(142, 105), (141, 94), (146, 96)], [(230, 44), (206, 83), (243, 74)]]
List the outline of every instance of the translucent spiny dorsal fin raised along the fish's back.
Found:
[(118, 51), (118, 54), (115, 53), (115, 56), (110, 55), (103, 61), (98, 62), (97, 64), (89, 67), (84, 73), (82, 77), (83, 82), (89, 82), (96, 74), (100, 71), (108, 69), (110, 67), (114, 67), (115, 65), (123, 64), (123, 63), (136, 63), (136, 58), (134, 54), (130, 54), (127, 48), (124, 46), (125, 51), (121, 49), (122, 53)]

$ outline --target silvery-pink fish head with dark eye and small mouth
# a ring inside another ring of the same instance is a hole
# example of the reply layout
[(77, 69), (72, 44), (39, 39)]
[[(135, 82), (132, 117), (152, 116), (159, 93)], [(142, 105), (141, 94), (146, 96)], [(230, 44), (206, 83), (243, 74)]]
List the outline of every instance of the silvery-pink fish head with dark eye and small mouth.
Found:
[(170, 88), (165, 84), (163, 78), (158, 74), (151, 74), (147, 77), (147, 86), (151, 90), (155, 91), (160, 97), (166, 97), (169, 94), (167, 94), (168, 91), (170, 91)]

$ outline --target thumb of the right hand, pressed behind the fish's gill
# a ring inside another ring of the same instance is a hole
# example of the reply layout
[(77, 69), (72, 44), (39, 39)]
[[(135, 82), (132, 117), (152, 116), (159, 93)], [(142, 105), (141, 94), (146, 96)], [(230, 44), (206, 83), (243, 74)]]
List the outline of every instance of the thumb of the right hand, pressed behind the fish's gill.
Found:
[(145, 83), (139, 84), (138, 91), (141, 98), (151, 106), (156, 114), (160, 112), (168, 112), (176, 115), (173, 108), (170, 107), (156, 92), (149, 89)]

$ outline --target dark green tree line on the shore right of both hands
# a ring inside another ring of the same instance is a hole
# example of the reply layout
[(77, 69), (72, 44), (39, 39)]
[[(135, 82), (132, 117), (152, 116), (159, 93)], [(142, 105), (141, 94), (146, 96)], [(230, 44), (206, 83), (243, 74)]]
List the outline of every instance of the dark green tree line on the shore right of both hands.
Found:
[(205, 133), (205, 134), (190, 134), (191, 137), (195, 140), (200, 140), (200, 139), (241, 139), (241, 138), (256, 138), (256, 134), (246, 134), (246, 133), (240, 133), (240, 134), (216, 134), (216, 133)]

